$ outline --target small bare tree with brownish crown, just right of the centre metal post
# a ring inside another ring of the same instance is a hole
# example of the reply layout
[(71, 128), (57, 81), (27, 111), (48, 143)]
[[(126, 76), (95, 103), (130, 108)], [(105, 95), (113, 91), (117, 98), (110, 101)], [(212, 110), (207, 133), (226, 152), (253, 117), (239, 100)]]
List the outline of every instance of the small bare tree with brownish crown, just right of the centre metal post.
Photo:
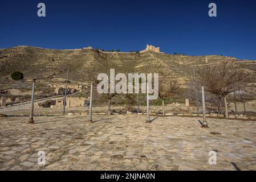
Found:
[(162, 100), (162, 115), (165, 115), (164, 100), (166, 97), (173, 96), (180, 89), (177, 80), (170, 79), (168, 82), (160, 82), (159, 84), (159, 98)]

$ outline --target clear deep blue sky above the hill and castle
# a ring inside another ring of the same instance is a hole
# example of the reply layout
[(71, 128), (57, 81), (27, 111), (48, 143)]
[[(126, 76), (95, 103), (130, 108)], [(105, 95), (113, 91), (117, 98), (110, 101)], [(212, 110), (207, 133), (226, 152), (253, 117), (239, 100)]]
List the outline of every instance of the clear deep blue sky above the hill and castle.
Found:
[[(46, 17), (37, 5), (46, 4)], [(217, 18), (208, 16), (210, 2)], [(162, 52), (256, 60), (256, 1), (1, 1), (0, 48), (19, 45)]]

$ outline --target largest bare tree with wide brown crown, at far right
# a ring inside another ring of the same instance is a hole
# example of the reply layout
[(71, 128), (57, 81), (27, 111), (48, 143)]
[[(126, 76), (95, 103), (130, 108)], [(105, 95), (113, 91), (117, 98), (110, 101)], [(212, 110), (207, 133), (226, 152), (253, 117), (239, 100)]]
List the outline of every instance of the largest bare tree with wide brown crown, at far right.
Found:
[(200, 68), (197, 75), (198, 81), (208, 92), (224, 98), (225, 117), (229, 118), (227, 94), (237, 90), (237, 85), (245, 80), (245, 73), (229, 64), (220, 64)]

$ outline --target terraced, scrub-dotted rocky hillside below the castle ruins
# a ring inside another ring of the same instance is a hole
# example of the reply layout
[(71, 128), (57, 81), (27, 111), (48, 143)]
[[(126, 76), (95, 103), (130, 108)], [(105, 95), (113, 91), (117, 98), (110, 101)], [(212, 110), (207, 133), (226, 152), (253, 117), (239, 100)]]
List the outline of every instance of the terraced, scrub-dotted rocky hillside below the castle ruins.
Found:
[(44, 84), (52, 84), (56, 79), (65, 78), (70, 69), (72, 81), (86, 82), (89, 73), (106, 73), (115, 68), (116, 73), (160, 73), (179, 78), (182, 83), (192, 77), (193, 67), (218, 64), (224, 61), (234, 63), (235, 67), (246, 72), (256, 73), (256, 61), (238, 60), (227, 56), (182, 56), (165, 53), (124, 53), (102, 52), (95, 49), (56, 50), (37, 47), (18, 46), (0, 49), (0, 86), (7, 86), (12, 81), (13, 71), (23, 72), (26, 79), (36, 77)]

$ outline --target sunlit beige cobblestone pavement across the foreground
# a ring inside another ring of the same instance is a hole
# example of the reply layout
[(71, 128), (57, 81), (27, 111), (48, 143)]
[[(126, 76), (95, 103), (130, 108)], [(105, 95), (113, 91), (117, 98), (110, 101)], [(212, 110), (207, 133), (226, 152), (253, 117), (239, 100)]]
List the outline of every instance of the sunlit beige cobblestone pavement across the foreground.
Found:
[[(0, 118), (1, 170), (256, 169), (256, 122), (144, 115)], [(38, 164), (38, 151), (46, 164)], [(217, 152), (210, 165), (209, 151)]]

